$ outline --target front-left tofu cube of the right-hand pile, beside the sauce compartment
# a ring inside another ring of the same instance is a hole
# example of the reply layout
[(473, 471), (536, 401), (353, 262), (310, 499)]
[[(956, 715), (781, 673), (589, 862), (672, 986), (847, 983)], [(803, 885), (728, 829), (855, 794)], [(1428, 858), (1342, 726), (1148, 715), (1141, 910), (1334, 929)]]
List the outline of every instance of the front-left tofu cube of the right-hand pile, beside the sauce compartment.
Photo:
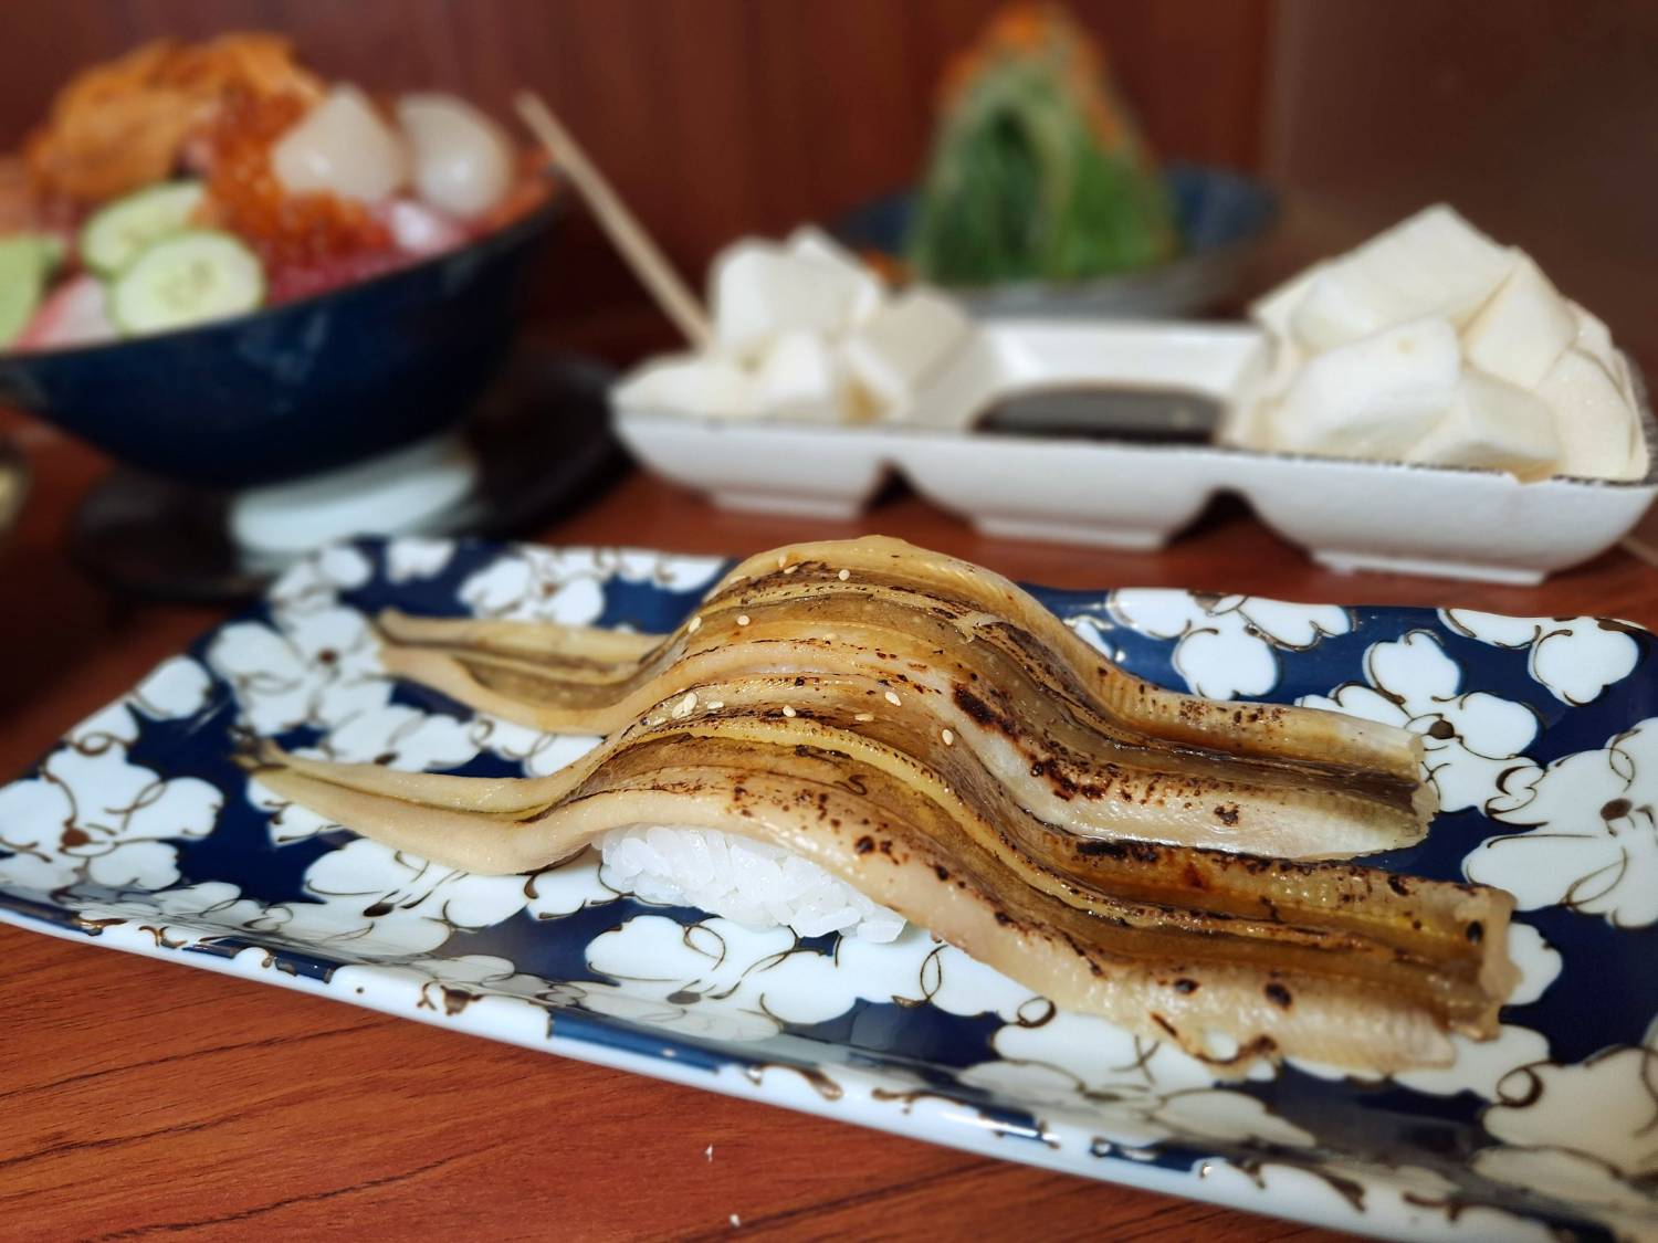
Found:
[(1292, 452), (1403, 459), (1451, 409), (1462, 356), (1449, 320), (1418, 320), (1311, 358), (1273, 414)]

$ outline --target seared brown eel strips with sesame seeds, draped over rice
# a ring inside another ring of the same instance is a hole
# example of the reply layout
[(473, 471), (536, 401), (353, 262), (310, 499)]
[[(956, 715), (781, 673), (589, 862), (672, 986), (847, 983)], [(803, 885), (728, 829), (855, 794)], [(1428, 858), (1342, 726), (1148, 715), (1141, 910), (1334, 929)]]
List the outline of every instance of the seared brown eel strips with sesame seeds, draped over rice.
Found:
[(444, 863), (532, 870), (638, 824), (773, 842), (1222, 1071), (1442, 1064), (1449, 1033), (1496, 1033), (1515, 979), (1507, 893), (1283, 858), (1419, 839), (1414, 738), (1161, 691), (1006, 580), (895, 540), (754, 557), (668, 636), (381, 626), (405, 676), (607, 734), (539, 779), (247, 757), (284, 797)]

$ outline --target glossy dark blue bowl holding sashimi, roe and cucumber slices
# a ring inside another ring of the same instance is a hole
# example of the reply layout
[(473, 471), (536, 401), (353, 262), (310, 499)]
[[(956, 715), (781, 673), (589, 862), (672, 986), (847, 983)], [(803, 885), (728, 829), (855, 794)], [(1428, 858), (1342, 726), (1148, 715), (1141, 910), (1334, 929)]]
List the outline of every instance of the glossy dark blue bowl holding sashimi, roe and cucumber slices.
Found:
[(249, 487), (347, 466), (463, 418), (506, 356), (557, 199), (461, 250), (234, 320), (0, 353), (0, 401), (129, 466)]

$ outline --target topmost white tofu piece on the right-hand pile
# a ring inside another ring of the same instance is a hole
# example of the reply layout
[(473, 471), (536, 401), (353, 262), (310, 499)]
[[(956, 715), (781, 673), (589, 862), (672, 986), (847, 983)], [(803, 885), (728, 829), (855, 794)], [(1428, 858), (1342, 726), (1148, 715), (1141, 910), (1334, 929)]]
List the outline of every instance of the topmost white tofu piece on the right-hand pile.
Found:
[(1474, 318), (1520, 255), (1446, 206), (1429, 207), (1325, 265), (1290, 315), (1308, 350), (1333, 350), (1419, 318)]

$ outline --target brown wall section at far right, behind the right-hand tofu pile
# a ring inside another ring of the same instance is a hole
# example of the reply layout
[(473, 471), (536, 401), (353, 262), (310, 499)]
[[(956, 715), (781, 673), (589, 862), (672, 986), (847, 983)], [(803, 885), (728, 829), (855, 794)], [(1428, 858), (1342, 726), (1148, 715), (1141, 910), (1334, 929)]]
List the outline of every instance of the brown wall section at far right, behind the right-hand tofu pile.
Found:
[(1282, 0), (1270, 63), (1292, 264), (1446, 201), (1658, 368), (1658, 5)]

